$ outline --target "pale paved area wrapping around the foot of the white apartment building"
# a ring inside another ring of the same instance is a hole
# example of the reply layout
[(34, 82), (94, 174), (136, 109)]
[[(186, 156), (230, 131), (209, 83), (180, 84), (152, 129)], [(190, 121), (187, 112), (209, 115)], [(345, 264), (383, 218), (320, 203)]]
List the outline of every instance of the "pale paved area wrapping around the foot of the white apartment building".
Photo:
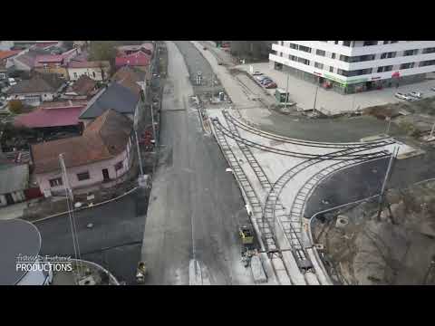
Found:
[[(238, 65), (236, 68), (249, 72), (250, 64)], [(260, 71), (272, 78), (278, 85), (278, 88), (284, 89), (287, 84), (287, 74), (276, 71), (273, 62), (252, 63), (254, 71)], [(435, 91), (430, 91), (430, 87), (435, 86), (435, 81), (419, 82), (410, 85), (403, 85), (399, 88), (391, 87), (380, 91), (364, 91), (355, 94), (342, 95), (335, 91), (326, 91), (319, 87), (317, 93), (316, 109), (325, 114), (339, 114), (346, 111), (363, 109), (375, 105), (387, 103), (396, 103), (398, 100), (394, 94), (399, 91), (407, 93), (410, 91), (421, 91), (423, 97), (435, 96)], [(305, 82), (292, 75), (289, 76), (288, 91), (291, 101), (295, 101), (297, 106), (304, 110), (314, 108), (314, 95), (316, 85), (311, 82)], [(268, 90), (275, 95), (275, 90)]]

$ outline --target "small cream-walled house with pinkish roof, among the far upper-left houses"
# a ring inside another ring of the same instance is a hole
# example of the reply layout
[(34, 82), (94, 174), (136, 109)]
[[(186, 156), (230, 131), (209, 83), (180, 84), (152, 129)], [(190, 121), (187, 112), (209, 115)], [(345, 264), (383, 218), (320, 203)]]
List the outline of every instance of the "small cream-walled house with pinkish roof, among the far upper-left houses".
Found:
[(75, 61), (68, 63), (70, 81), (77, 81), (80, 76), (87, 75), (94, 81), (105, 81), (109, 77), (111, 64), (108, 61)]

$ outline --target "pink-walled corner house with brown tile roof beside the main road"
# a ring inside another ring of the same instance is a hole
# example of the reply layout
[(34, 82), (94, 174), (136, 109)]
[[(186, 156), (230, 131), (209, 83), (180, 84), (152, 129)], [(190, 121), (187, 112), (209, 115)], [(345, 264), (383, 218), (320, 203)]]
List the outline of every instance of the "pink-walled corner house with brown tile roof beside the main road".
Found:
[(133, 124), (115, 110), (106, 110), (82, 136), (31, 146), (34, 178), (46, 197), (64, 194), (59, 155), (73, 189), (99, 186), (124, 176), (131, 168)]

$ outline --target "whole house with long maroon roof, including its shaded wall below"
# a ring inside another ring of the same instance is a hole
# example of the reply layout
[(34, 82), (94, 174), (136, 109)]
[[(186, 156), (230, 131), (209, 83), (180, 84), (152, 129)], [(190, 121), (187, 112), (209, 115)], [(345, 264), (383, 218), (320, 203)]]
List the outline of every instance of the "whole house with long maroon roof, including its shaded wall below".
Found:
[(21, 114), (14, 120), (17, 127), (27, 127), (41, 131), (43, 136), (63, 132), (80, 135), (82, 123), (79, 116), (86, 107), (86, 101), (46, 102), (27, 114)]

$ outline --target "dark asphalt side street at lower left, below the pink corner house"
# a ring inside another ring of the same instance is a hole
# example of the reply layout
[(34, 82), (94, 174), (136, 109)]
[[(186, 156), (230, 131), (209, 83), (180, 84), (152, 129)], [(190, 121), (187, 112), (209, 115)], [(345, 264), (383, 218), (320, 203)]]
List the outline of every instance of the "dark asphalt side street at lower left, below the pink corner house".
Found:
[[(118, 281), (135, 283), (145, 218), (139, 192), (118, 201), (75, 213), (82, 259), (101, 264)], [(146, 207), (145, 207), (146, 208)], [(93, 224), (88, 228), (89, 223)], [(42, 237), (42, 254), (73, 256), (68, 216), (36, 222)]]

